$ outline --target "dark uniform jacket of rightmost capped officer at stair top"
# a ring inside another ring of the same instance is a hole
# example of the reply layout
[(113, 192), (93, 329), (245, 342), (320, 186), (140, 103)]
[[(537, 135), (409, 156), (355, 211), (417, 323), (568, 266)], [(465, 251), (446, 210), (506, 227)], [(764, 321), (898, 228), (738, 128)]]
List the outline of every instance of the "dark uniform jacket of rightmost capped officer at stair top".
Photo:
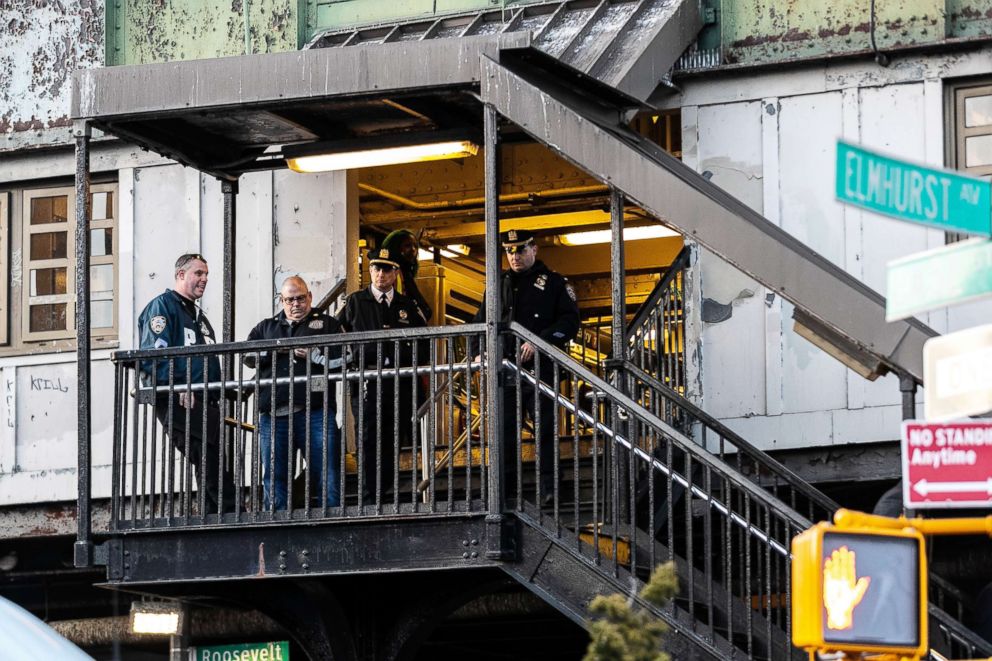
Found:
[[(579, 332), (579, 306), (575, 293), (560, 273), (549, 269), (537, 260), (522, 273), (508, 270), (500, 276), (502, 310), (500, 321), (516, 321), (559, 349), (575, 338)], [(483, 298), (474, 323), (485, 321), (486, 302)], [(475, 347), (473, 347), (475, 348)], [(508, 338), (504, 352), (515, 351), (515, 340)], [(478, 353), (476, 348), (474, 353)]]

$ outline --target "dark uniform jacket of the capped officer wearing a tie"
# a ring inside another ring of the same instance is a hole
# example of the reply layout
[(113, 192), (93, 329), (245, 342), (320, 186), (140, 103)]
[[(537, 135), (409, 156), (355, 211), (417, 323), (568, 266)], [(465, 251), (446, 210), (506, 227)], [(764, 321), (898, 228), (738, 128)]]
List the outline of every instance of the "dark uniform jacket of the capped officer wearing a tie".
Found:
[[(408, 296), (394, 291), (393, 302), (389, 310), (385, 311), (379, 301), (375, 300), (372, 292), (366, 287), (361, 291), (356, 291), (345, 301), (344, 309), (338, 313), (338, 321), (345, 331), (361, 332), (384, 330), (389, 328), (419, 328), (426, 326), (427, 321), (417, 306), (416, 301)], [(400, 342), (400, 363), (409, 365), (413, 356), (413, 342), (404, 340)], [(358, 347), (353, 347), (357, 358)], [(418, 345), (418, 362), (424, 362), (427, 358), (428, 347), (421, 342)], [(376, 363), (376, 346), (374, 344), (365, 347), (365, 365), (374, 367)], [(382, 345), (383, 366), (391, 364), (394, 357), (392, 342), (383, 342)], [(386, 361), (389, 361), (388, 363)]]

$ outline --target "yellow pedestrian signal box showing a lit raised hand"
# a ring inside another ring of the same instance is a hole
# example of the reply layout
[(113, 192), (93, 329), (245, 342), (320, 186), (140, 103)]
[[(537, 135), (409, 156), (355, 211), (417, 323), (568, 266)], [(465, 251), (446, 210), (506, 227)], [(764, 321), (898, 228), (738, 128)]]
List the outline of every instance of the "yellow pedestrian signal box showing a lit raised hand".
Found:
[(920, 532), (818, 523), (792, 540), (792, 644), (922, 656), (926, 590)]

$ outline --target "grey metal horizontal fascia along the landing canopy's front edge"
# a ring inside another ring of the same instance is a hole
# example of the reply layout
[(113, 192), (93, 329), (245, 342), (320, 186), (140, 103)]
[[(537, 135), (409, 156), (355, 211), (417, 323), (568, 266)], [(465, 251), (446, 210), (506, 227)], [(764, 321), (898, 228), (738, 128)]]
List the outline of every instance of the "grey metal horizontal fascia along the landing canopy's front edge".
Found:
[(73, 119), (149, 118), (294, 100), (476, 85), (479, 56), (524, 48), (526, 33), (431, 43), (267, 53), (86, 69), (73, 74)]

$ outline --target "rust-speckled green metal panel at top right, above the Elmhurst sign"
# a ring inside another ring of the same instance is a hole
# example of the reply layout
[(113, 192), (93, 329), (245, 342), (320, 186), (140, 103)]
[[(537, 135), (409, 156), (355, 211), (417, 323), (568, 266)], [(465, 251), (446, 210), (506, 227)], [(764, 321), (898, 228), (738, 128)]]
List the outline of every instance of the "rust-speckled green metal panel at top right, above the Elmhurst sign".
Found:
[(898, 49), (947, 34), (944, 0), (724, 1), (720, 23), (725, 64), (862, 52), (873, 36), (879, 49)]

